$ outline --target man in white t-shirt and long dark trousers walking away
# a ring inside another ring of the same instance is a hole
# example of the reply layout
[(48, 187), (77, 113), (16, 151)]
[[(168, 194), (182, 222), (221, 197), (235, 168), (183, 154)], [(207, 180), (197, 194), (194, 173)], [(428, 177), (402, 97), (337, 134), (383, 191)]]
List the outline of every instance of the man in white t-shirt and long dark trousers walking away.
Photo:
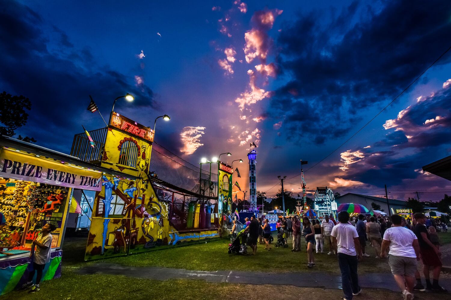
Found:
[(357, 275), (358, 260), (362, 258), (359, 234), (354, 226), (348, 223), (349, 213), (340, 211), (338, 222), (331, 232), (332, 245), (336, 249), (338, 265), (341, 271), (341, 286), (345, 297), (343, 300), (352, 300), (362, 292)]

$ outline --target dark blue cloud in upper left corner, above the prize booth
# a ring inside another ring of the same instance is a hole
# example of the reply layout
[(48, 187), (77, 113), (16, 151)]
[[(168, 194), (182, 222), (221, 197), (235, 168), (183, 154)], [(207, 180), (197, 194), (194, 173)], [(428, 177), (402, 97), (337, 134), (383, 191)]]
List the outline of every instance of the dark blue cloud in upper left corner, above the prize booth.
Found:
[[(86, 113), (82, 103), (89, 103), (89, 95), (98, 107), (111, 107), (111, 99), (124, 91), (135, 96), (135, 108), (152, 113), (159, 106), (149, 87), (135, 87), (133, 76), (99, 65), (89, 48), (75, 48), (63, 31), (55, 31), (56, 36), (44, 33), (51, 26), (29, 7), (15, 1), (0, 5), (0, 36), (7, 41), (0, 43), (0, 89), (32, 102), (28, 123), (18, 133), (67, 152), (73, 135), (81, 131), (80, 118)], [(97, 118), (84, 121), (86, 128), (95, 129)]]

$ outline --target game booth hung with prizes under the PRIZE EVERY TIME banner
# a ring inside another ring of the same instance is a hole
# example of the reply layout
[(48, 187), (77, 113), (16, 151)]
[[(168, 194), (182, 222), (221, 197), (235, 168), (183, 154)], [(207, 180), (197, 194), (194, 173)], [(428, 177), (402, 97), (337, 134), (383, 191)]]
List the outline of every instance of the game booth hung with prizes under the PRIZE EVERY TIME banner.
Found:
[[(119, 172), (95, 166), (64, 153), (0, 137), (0, 295), (22, 285), (28, 277), (32, 241), (47, 223), (51, 261), (42, 280), (60, 277), (62, 242), (74, 189), (99, 191), (104, 174)], [(122, 175), (122, 178), (129, 175)]]

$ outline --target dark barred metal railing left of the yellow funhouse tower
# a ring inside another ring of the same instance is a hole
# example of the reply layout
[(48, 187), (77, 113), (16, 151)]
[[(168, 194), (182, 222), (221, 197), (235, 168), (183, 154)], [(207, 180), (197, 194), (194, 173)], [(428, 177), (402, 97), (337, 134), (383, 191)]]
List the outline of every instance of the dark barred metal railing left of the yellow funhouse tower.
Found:
[(70, 155), (78, 157), (82, 161), (101, 161), (102, 154), (99, 150), (103, 152), (103, 149), (105, 148), (107, 128), (100, 128), (88, 132), (98, 149), (91, 147), (87, 135), (83, 132), (74, 135), (74, 142), (70, 149)]

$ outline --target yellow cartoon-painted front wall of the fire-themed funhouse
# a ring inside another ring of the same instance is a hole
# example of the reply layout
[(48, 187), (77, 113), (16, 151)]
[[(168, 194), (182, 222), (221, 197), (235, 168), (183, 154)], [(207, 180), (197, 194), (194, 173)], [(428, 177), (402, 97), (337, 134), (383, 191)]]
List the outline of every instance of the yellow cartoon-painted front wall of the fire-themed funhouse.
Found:
[[(171, 225), (168, 219), (171, 195), (160, 190), (156, 193), (149, 179), (151, 150), (149, 140), (111, 126), (108, 128), (101, 165), (128, 174), (130, 178), (103, 175), (102, 189), (96, 193), (93, 203), (85, 260), (219, 237), (216, 229), (179, 232)], [(211, 215), (211, 204), (202, 209), (210, 211)]]

